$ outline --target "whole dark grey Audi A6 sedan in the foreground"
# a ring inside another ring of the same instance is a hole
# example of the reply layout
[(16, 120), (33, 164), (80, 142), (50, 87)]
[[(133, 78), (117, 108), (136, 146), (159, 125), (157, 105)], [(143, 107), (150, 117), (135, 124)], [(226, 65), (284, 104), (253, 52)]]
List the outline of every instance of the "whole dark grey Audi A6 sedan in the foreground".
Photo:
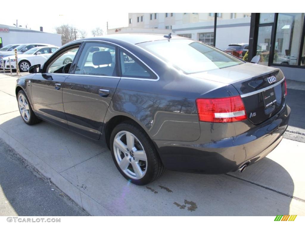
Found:
[[(73, 56), (63, 64), (66, 56)], [(17, 80), (23, 121), (40, 120), (106, 144), (134, 184), (164, 169), (242, 171), (282, 140), (286, 82), (192, 39), (152, 34), (86, 38)]]

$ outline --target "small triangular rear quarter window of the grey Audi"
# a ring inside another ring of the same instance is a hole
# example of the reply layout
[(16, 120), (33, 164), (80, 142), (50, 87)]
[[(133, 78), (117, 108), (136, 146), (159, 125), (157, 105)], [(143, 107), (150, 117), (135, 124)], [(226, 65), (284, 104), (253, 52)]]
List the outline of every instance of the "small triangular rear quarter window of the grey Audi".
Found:
[(130, 53), (120, 49), (120, 66), (122, 77), (128, 78), (156, 78), (155, 75), (140, 60)]

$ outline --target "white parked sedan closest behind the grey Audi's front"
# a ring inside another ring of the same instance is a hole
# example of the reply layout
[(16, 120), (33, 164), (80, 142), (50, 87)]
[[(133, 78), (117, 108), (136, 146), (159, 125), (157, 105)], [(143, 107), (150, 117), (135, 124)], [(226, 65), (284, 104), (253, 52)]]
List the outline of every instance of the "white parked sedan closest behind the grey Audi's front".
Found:
[[(57, 46), (39, 46), (32, 48), (23, 54), (19, 54), (17, 57), (20, 71), (28, 71), (30, 66), (34, 64), (43, 65), (58, 48), (59, 47)], [(16, 69), (15, 55), (3, 58), (5, 69), (9, 70), (9, 58), (11, 61), (11, 68)]]

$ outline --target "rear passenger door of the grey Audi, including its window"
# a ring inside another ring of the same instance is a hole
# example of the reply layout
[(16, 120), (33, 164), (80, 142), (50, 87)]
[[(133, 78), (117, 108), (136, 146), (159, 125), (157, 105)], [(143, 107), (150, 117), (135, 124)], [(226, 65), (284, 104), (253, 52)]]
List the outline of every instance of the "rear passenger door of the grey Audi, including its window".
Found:
[(69, 129), (95, 140), (120, 81), (116, 49), (103, 42), (86, 42), (63, 88)]

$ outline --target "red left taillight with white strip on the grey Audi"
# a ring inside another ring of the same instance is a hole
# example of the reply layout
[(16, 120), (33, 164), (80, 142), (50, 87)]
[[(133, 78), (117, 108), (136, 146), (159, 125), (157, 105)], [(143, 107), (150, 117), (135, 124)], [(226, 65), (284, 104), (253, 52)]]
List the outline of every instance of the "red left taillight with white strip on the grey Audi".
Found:
[(237, 122), (247, 119), (240, 96), (215, 99), (196, 99), (199, 121)]

